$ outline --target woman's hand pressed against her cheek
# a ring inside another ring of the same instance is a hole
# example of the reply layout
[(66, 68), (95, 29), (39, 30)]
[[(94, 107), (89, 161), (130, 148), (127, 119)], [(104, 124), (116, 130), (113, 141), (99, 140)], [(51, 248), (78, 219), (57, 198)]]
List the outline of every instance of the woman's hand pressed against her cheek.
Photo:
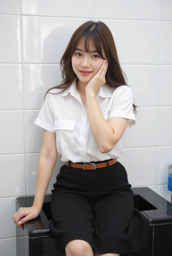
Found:
[(99, 71), (93, 76), (93, 78), (90, 80), (90, 82), (85, 87), (86, 91), (91, 91), (93, 93), (96, 93), (100, 87), (102, 87), (103, 84), (105, 84), (105, 74), (108, 67), (108, 60), (107, 58), (103, 61), (101, 68)]

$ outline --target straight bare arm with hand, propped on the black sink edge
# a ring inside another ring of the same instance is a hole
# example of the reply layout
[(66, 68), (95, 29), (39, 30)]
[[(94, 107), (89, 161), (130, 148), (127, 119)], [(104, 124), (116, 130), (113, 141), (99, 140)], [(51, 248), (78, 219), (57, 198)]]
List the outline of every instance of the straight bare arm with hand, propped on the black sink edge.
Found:
[[(43, 145), (39, 156), (36, 192), (33, 206), (20, 207), (13, 215), (14, 223), (24, 230), (23, 223), (40, 214), (50, 179), (57, 161), (56, 133), (44, 129)], [(21, 219), (22, 218), (22, 219)]]

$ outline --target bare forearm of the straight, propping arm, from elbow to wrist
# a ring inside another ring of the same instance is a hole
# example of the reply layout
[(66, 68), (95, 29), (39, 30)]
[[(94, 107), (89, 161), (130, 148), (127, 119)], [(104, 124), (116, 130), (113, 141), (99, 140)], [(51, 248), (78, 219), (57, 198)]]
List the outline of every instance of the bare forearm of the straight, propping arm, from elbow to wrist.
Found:
[(40, 154), (36, 178), (36, 191), (33, 206), (42, 209), (48, 185), (55, 167), (57, 158), (51, 159)]

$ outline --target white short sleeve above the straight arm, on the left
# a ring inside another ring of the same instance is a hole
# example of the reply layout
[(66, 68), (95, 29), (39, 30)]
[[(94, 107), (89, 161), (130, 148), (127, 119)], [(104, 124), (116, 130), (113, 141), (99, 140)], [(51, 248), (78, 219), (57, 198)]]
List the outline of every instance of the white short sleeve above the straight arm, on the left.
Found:
[(56, 132), (55, 130), (53, 130), (54, 119), (53, 119), (51, 98), (50, 98), (49, 92), (45, 96), (44, 104), (42, 105), (42, 108), (34, 124), (39, 125), (40, 127), (44, 128), (47, 131), (54, 132), (54, 133)]

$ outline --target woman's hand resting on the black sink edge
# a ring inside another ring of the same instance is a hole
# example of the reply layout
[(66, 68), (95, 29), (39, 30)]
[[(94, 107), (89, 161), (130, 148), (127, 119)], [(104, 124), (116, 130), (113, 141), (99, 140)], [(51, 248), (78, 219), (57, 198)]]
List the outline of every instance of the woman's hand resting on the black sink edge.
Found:
[[(24, 230), (24, 227), (22, 226), (22, 224), (28, 220), (35, 219), (36, 217), (38, 217), (40, 214), (40, 211), (41, 210), (35, 206), (20, 207), (18, 211), (13, 215), (14, 223), (17, 225), (17, 227)], [(21, 223), (19, 223), (20, 221)]]

